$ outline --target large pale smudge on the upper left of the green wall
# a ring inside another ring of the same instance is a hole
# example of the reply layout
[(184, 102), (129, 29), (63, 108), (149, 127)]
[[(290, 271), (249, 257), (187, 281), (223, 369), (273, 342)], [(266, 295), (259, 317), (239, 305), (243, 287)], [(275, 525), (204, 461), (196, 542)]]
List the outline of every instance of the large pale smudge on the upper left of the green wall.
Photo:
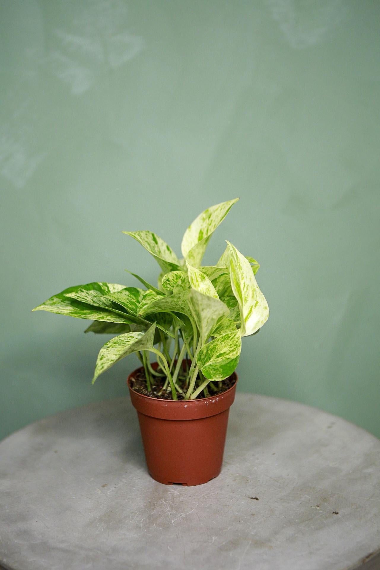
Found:
[[(141, 36), (126, 29), (127, 8), (120, 0), (71, 2), (76, 14), (70, 29), (52, 33), (56, 47), (48, 62), (53, 75), (81, 95), (108, 67), (116, 69), (133, 59), (144, 47)], [(71, 3), (65, 2), (65, 11)]]

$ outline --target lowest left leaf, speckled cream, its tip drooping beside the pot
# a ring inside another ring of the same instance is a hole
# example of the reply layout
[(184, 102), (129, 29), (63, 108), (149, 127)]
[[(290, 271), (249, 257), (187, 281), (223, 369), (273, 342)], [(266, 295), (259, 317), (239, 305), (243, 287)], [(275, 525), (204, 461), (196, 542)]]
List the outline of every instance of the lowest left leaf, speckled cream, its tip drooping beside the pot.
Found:
[(105, 343), (100, 349), (96, 360), (95, 373), (92, 378), (92, 384), (96, 378), (105, 370), (112, 367), (119, 360), (137, 351), (144, 351), (153, 348), (154, 331), (156, 324), (144, 332), (127, 332), (125, 335), (115, 336), (113, 339)]

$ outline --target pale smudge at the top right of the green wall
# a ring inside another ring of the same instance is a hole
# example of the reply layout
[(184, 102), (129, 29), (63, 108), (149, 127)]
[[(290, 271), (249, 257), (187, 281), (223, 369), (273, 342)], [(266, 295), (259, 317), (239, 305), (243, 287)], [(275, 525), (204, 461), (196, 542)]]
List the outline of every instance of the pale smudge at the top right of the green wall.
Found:
[(267, 5), (296, 49), (322, 42), (346, 15), (342, 0), (267, 0)]

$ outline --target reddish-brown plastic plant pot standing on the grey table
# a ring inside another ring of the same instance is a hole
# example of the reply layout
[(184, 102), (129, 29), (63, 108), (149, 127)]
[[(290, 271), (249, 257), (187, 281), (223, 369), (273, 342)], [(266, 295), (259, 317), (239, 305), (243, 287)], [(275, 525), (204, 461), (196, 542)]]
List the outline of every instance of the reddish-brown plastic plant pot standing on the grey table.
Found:
[[(154, 363), (156, 364), (156, 363)], [(138, 368), (128, 377), (130, 398), (137, 410), (148, 471), (160, 483), (200, 485), (222, 469), (232, 388), (201, 400), (161, 400), (132, 388)]]

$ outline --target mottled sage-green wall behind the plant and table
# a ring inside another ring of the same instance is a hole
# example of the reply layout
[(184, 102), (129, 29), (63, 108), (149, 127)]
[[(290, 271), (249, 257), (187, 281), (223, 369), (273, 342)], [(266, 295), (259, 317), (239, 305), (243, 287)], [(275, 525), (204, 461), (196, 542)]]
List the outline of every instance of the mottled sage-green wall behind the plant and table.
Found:
[(380, 435), (378, 2), (1, 1), (1, 435), (126, 394), (129, 357), (91, 386), (108, 337), (31, 308), (94, 280), (154, 280), (121, 230), (179, 253), (211, 240), (261, 263), (271, 316), (239, 390)]

